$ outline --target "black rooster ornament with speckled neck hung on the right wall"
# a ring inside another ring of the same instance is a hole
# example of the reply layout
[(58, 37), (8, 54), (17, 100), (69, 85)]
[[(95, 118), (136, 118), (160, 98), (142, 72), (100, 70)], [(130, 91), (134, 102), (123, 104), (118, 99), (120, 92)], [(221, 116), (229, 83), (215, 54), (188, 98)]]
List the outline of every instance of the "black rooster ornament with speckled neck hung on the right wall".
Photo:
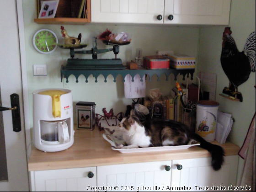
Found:
[(248, 37), (243, 52), (239, 52), (231, 34), (230, 27), (226, 27), (223, 33), (221, 65), (229, 78), (229, 87), (225, 87), (223, 93), (243, 102), (238, 86), (249, 79), (251, 71), (255, 72), (255, 32)]

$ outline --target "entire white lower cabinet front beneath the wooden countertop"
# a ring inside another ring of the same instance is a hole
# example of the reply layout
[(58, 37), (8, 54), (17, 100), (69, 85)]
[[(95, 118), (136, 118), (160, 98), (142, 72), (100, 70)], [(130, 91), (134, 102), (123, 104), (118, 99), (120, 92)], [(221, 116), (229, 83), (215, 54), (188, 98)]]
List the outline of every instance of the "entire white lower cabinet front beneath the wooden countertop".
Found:
[[(191, 191), (208, 191), (199, 187), (236, 186), (238, 155), (225, 157), (221, 170), (214, 171), (212, 158), (170, 160), (125, 165), (107, 165), (90, 168), (64, 169), (30, 172), (31, 191), (88, 191), (91, 187), (116, 187), (118, 190), (137, 191), (137, 187), (160, 187), (156, 191), (166, 191), (167, 187), (192, 187)], [(181, 171), (177, 165), (182, 165)], [(170, 166), (170, 171), (165, 167)], [(89, 178), (92, 172), (94, 176)], [(87, 188), (88, 186), (91, 186)], [(163, 188), (164, 187), (164, 188)], [(110, 188), (111, 189), (111, 188)], [(168, 188), (170, 189), (170, 188)], [(102, 189), (104, 190), (104, 189)], [(176, 188), (171, 188), (175, 191)], [(147, 188), (139, 188), (147, 191)], [(178, 190), (177, 190), (178, 191)], [(211, 188), (209, 188), (211, 191)], [(213, 191), (219, 191), (214, 189)], [(227, 189), (224, 191), (228, 191)]]

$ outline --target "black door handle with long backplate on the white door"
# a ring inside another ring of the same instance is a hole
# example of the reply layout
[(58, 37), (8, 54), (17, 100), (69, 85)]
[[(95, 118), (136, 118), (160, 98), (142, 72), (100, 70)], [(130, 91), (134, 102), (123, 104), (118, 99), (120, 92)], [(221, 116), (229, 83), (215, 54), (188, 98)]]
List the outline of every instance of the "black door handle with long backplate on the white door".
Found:
[(0, 107), (0, 112), (11, 111), (12, 116), (12, 128), (13, 131), (18, 133), (21, 131), (21, 113), (20, 113), (20, 100), (19, 95), (11, 95), (11, 107)]

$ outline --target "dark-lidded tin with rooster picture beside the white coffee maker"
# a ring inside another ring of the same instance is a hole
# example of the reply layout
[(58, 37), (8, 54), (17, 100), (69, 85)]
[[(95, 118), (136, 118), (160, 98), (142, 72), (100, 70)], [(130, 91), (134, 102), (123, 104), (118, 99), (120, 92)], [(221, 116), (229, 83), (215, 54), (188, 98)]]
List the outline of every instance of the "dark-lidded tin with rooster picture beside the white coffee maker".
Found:
[(93, 131), (95, 128), (95, 102), (78, 102), (76, 104), (77, 128)]

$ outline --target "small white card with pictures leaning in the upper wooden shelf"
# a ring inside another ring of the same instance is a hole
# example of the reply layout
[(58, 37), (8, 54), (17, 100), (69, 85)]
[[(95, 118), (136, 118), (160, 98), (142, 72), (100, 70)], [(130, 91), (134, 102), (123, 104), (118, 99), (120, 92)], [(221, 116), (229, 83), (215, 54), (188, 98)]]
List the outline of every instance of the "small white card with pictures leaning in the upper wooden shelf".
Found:
[(41, 1), (41, 11), (39, 19), (54, 18), (58, 9), (59, 0)]

